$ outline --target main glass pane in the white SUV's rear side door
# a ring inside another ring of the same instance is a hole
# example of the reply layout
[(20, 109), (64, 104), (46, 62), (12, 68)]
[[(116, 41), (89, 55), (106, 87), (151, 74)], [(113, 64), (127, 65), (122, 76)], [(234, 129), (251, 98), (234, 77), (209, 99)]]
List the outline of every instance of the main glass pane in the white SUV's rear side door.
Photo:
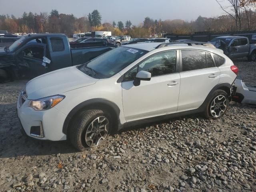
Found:
[(206, 68), (206, 53), (197, 50), (182, 50), (182, 71)]

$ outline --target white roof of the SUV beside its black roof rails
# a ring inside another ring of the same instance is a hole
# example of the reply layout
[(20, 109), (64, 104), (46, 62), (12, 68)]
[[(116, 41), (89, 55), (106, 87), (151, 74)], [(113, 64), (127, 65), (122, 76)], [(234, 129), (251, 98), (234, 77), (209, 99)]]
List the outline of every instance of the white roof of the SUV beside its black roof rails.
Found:
[[(141, 50), (146, 50), (146, 51), (152, 51), (155, 50), (156, 47), (160, 44), (163, 44), (163, 42), (140, 42), (136, 44), (127, 44), (127, 45), (122, 45), (122, 47), (129, 47), (129, 48), (134, 48), (134, 49), (141, 49)], [(216, 53), (223, 53), (222, 50), (213, 48), (213, 47), (208, 47), (208, 46), (202, 46), (202, 45), (193, 45), (189, 46), (188, 44), (170, 44), (168, 46), (165, 46), (160, 49), (168, 50), (169, 49), (198, 49), (198, 50), (204, 50), (204, 51), (209, 51), (209, 52), (216, 52)]]

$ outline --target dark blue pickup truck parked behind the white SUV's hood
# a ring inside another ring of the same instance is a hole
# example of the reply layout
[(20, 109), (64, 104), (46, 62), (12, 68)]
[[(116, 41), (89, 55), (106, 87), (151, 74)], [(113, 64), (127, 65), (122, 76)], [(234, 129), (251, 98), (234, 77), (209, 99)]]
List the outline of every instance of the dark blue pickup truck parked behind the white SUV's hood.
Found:
[(115, 45), (108, 42), (88, 42), (77, 48), (64, 34), (28, 34), (0, 48), (0, 81), (34, 78), (83, 64), (113, 48)]

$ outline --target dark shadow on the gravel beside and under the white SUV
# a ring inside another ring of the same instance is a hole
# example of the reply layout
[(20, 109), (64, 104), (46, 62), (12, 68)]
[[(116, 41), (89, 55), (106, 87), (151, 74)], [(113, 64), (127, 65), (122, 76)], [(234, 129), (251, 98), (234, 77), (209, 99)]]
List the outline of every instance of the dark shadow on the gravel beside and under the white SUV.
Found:
[[(124, 132), (129, 132), (130, 130), (143, 130), (147, 126), (154, 126), (156, 124), (162, 124), (169, 121), (170, 120), (157, 121), (140, 124), (138, 126), (131, 126), (124, 130), (120, 130), (116, 134), (124, 134)], [(78, 152), (67, 141), (41, 141), (22, 135), (20, 132), (18, 118), (16, 116), (16, 103), (0, 104), (0, 122), (0, 158), (57, 155)], [(90, 150), (90, 148), (88, 148), (88, 150)]]

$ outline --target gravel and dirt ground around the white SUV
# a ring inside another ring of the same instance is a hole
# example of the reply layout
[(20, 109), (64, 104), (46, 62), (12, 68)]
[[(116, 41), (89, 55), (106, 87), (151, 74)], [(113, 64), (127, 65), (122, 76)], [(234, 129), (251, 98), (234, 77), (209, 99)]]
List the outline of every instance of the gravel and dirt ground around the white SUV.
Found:
[[(256, 63), (235, 64), (255, 86)], [(256, 190), (256, 106), (231, 103), (218, 120), (195, 114), (136, 126), (77, 152), (22, 136), (15, 110), (25, 84), (0, 84), (0, 191)]]

